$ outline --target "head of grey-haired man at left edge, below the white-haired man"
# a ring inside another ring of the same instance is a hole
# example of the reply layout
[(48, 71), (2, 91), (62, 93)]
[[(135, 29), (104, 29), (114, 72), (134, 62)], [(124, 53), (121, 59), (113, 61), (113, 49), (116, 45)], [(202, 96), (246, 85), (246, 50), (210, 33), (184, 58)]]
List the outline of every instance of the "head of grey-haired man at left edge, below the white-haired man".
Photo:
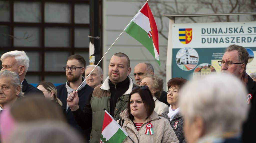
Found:
[(0, 113), (23, 97), (22, 84), (16, 72), (0, 71)]

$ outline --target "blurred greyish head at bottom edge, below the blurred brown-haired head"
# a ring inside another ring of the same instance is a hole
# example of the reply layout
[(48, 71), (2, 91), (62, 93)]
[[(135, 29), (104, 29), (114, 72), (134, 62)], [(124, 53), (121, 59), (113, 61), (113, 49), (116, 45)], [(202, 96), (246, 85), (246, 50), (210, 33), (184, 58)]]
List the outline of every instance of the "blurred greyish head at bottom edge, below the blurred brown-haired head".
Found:
[(37, 121), (20, 124), (11, 134), (9, 143), (84, 143), (77, 131), (63, 122)]

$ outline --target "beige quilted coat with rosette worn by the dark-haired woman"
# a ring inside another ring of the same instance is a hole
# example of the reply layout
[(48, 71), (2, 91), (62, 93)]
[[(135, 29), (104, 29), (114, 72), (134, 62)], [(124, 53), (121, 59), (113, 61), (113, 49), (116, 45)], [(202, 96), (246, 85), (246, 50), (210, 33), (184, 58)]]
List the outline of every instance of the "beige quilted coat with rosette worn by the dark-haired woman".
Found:
[[(127, 109), (120, 113), (120, 117), (124, 120), (122, 128), (128, 133), (135, 143), (178, 143), (178, 138), (173, 131), (173, 128), (170, 126), (170, 123), (163, 118), (161, 115), (158, 115), (155, 111), (151, 116), (145, 121), (145, 123), (137, 131), (133, 122), (128, 117)], [(117, 121), (119, 122), (119, 120)], [(153, 125), (153, 135), (146, 135), (146, 125), (151, 123)], [(131, 139), (126, 137), (123, 143), (132, 143)]]

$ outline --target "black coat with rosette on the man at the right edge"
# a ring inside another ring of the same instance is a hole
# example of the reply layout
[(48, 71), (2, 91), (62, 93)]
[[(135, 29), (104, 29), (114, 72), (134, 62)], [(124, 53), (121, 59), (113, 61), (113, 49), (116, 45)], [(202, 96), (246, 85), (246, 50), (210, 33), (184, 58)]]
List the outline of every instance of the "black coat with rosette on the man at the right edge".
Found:
[(246, 85), (248, 93), (252, 95), (250, 99), (249, 114), (243, 124), (242, 140), (243, 142), (256, 142), (256, 82), (248, 76)]

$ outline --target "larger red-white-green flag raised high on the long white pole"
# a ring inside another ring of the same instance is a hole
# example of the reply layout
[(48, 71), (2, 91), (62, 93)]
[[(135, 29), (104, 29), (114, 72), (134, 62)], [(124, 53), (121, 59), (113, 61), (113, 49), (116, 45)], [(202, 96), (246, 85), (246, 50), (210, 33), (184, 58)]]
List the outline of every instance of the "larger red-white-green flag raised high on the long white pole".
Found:
[(160, 66), (158, 31), (155, 19), (147, 2), (125, 27), (124, 31), (146, 47)]

